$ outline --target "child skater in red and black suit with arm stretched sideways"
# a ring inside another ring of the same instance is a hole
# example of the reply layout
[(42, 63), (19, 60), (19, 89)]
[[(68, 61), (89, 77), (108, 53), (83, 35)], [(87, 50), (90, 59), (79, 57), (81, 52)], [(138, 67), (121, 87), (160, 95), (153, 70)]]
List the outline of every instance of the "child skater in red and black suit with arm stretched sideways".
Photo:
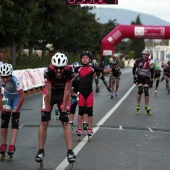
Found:
[(110, 72), (111, 69), (102, 69), (96, 66), (90, 66), (92, 60), (92, 53), (89, 51), (83, 51), (80, 55), (82, 66), (76, 67), (75, 72), (79, 73), (79, 115), (78, 115), (78, 130), (76, 134), (81, 136), (82, 134), (82, 116), (88, 115), (88, 136), (93, 134), (92, 122), (93, 122), (93, 91), (92, 83), (94, 72)]

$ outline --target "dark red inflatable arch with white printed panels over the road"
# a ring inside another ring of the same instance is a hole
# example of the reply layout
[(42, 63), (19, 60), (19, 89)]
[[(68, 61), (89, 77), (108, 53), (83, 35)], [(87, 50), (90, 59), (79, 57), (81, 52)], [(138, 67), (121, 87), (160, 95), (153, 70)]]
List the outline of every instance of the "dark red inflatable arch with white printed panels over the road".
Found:
[(124, 38), (170, 39), (170, 26), (118, 25), (102, 39), (101, 59), (114, 54), (115, 46)]

